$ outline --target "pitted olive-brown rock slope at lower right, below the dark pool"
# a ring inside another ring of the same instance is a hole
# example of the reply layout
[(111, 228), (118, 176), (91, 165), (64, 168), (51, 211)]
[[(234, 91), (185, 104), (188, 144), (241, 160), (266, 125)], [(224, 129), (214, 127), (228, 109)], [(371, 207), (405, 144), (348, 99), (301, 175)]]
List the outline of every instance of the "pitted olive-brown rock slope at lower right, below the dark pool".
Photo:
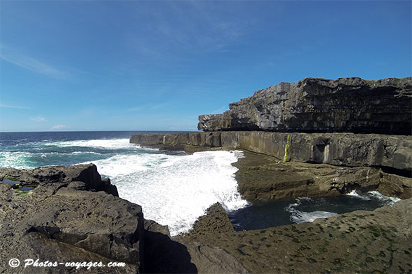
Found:
[[(215, 211), (208, 213), (213, 219)], [(216, 273), (411, 273), (411, 213), (412, 199), (406, 199), (375, 211), (268, 229), (209, 233), (198, 227), (196, 235), (178, 241), (189, 252), (191, 243), (200, 251), (223, 250), (241, 266)]]

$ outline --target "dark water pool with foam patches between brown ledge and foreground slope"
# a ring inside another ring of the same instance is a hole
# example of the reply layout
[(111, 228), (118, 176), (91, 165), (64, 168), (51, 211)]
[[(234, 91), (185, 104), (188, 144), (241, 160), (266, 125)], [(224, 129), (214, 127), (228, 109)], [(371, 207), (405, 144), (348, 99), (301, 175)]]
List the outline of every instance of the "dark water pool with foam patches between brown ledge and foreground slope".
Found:
[(256, 201), (228, 213), (237, 231), (265, 229), (285, 224), (313, 222), (318, 218), (357, 210), (373, 211), (381, 206), (392, 206), (399, 198), (387, 197), (377, 191), (358, 194), (353, 190), (335, 197), (298, 197), (275, 201)]

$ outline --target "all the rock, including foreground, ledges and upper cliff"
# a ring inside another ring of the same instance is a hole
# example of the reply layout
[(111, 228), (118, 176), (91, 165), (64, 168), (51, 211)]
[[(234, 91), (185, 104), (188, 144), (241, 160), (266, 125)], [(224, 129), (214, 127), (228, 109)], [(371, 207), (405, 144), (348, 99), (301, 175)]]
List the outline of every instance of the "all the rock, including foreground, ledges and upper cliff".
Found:
[[(394, 206), (234, 231), (214, 204), (192, 231), (170, 237), (95, 165), (0, 169), (0, 273), (412, 273), (411, 82), (281, 83), (200, 116), (206, 132), (130, 139), (188, 153), (244, 151), (233, 165), (249, 201), (378, 190), (403, 199)], [(124, 266), (11, 268), (12, 258)]]

